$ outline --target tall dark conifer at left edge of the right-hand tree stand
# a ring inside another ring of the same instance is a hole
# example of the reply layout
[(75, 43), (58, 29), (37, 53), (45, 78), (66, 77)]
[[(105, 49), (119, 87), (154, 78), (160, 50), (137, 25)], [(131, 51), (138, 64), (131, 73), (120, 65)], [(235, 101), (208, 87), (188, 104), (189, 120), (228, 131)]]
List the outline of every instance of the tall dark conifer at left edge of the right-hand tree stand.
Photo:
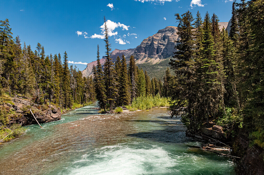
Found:
[[(173, 113), (177, 114), (180, 112), (177, 109), (184, 109), (185, 99), (187, 100), (187, 112), (188, 117), (192, 118), (192, 103), (194, 100), (193, 89), (193, 74), (195, 72), (195, 61), (194, 61), (194, 33), (193, 33), (193, 21), (194, 18), (190, 11), (182, 14), (181, 16), (177, 13), (178, 32), (180, 40), (176, 41), (178, 43), (175, 48), (175, 56), (171, 59), (169, 63), (172, 69), (175, 70), (178, 86), (181, 89), (179, 100), (173, 105)], [(174, 94), (178, 95), (178, 94)]]

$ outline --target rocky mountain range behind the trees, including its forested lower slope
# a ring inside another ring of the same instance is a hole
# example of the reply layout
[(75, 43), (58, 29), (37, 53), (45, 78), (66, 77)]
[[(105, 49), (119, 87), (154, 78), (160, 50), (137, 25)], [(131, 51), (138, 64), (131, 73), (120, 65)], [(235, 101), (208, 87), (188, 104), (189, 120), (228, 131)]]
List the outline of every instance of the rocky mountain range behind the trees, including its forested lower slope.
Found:
[[(219, 22), (219, 28), (227, 28), (230, 22)], [(149, 36), (144, 39), (139, 46), (134, 49), (119, 50), (115, 49), (111, 54), (113, 62), (115, 62), (116, 57), (120, 58), (124, 54), (127, 61), (129, 57), (133, 55), (136, 59), (136, 64), (142, 67), (144, 70), (149, 70), (150, 78), (158, 76), (158, 74), (164, 74), (164, 71), (168, 67), (169, 58), (171, 58), (175, 52), (175, 40), (178, 40), (177, 27), (168, 26), (164, 29), (159, 30), (156, 34)], [(163, 62), (164, 61), (164, 62)], [(105, 56), (100, 60), (101, 64), (105, 62)], [(162, 63), (163, 62), (163, 63)], [(158, 63), (158, 64), (156, 64)], [(96, 64), (96, 61), (87, 64), (87, 67), (82, 71), (84, 77), (92, 75), (92, 66)], [(155, 64), (155, 66), (153, 65)]]

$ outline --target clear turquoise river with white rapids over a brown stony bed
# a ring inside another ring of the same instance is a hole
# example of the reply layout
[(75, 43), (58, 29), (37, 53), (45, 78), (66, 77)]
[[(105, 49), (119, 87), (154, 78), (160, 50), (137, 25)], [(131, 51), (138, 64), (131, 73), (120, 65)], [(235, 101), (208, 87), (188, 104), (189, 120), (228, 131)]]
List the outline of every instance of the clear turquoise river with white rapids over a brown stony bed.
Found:
[(0, 174), (235, 174), (231, 159), (191, 147), (201, 143), (166, 109), (98, 114), (94, 106), (1, 144)]

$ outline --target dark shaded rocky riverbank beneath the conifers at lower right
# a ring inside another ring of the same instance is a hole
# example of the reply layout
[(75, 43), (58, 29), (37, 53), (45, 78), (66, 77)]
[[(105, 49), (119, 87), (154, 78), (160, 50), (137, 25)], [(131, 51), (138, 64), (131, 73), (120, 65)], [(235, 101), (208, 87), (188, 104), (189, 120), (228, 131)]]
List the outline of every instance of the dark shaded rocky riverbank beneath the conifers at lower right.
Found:
[(237, 174), (263, 174), (264, 150), (258, 146), (251, 146), (245, 131), (237, 132), (237, 134), (232, 134), (229, 130), (210, 123), (209, 125), (204, 124), (197, 130), (187, 130), (186, 136), (208, 142), (202, 147), (204, 149), (213, 146), (228, 147), (231, 152), (227, 156), (237, 163)]

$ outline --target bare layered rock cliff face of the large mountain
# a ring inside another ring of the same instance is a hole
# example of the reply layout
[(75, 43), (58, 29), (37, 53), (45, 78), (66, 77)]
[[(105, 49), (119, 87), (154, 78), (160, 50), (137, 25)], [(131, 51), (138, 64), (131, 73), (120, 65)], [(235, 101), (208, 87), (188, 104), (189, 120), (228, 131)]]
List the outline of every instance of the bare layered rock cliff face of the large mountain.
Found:
[(175, 40), (178, 40), (176, 34), (177, 27), (168, 26), (158, 31), (158, 33), (144, 39), (141, 44), (136, 47), (134, 57), (136, 63), (152, 62), (157, 63), (162, 59), (166, 59), (175, 52)]

